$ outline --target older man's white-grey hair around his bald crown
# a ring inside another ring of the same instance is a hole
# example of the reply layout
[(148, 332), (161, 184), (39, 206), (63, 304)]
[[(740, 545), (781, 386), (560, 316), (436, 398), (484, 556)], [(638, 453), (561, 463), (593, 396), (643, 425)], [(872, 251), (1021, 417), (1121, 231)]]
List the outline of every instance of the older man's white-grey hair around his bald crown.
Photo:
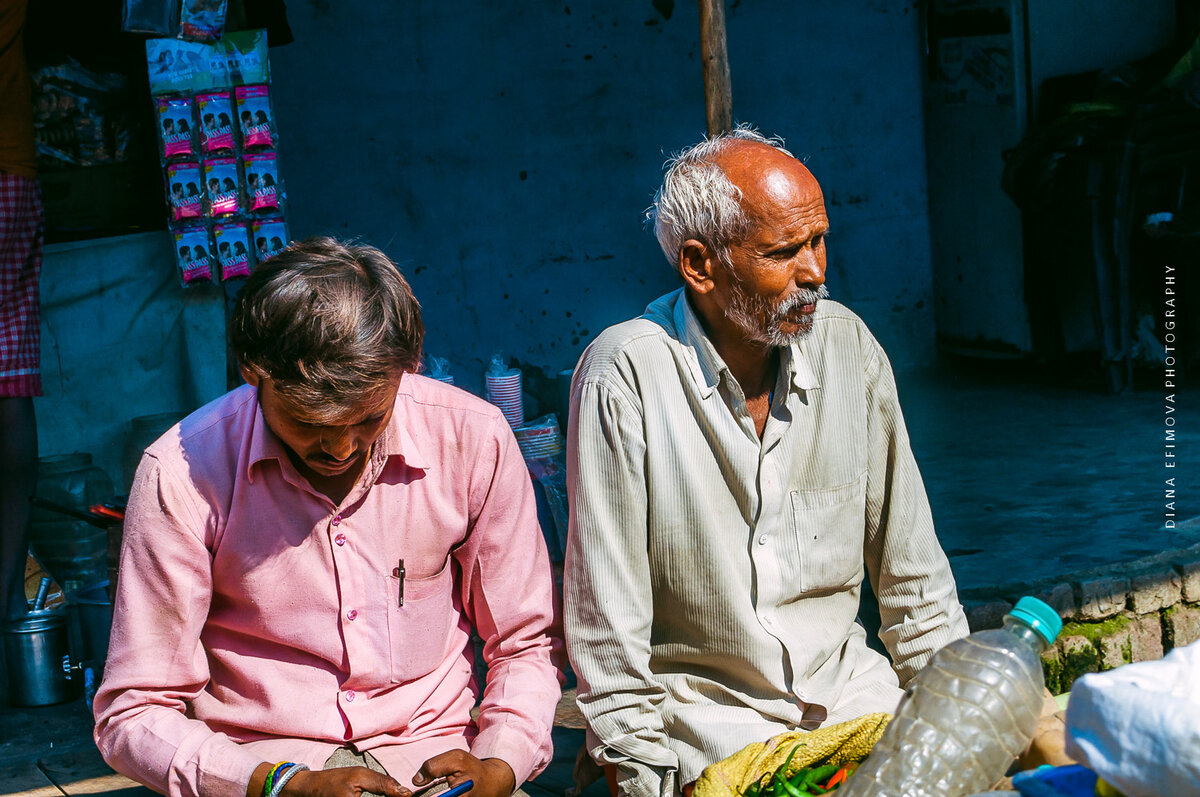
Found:
[(754, 126), (740, 124), (667, 160), (662, 186), (646, 210), (646, 220), (654, 224), (654, 236), (672, 268), (679, 266), (679, 250), (689, 239), (709, 246), (728, 262), (730, 245), (750, 232), (742, 190), (716, 164), (726, 148), (739, 140), (758, 142), (794, 157), (784, 149), (782, 138), (763, 136)]

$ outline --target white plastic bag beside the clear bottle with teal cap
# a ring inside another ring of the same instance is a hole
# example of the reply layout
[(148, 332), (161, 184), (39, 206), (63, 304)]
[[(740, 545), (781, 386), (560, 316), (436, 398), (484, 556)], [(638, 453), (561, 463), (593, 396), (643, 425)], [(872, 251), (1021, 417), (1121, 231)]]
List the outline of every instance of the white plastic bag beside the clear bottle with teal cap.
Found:
[(1200, 642), (1078, 679), (1067, 755), (1127, 797), (1200, 797)]

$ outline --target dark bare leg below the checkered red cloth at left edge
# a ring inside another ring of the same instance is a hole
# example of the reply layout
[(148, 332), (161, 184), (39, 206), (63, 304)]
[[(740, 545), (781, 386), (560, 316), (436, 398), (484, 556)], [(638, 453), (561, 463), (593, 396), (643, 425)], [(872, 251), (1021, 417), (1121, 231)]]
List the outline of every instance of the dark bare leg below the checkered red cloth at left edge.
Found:
[(34, 400), (0, 398), (0, 617), (25, 611), (29, 521), (37, 485)]

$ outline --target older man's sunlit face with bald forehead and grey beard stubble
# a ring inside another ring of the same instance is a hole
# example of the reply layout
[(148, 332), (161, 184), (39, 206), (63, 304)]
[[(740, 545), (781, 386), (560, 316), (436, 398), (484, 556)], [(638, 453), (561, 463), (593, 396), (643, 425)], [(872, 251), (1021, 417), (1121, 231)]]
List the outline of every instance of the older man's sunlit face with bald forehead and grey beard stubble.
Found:
[(812, 330), (817, 302), (829, 295), (821, 186), (799, 161), (763, 145), (736, 151), (724, 168), (752, 221), (720, 266), (725, 314), (746, 342), (790, 346)]

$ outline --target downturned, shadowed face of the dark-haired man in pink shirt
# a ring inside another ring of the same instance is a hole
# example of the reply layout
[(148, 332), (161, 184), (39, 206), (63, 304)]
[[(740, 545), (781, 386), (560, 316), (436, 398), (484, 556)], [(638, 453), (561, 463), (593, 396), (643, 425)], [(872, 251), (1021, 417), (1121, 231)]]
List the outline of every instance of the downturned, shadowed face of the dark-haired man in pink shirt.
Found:
[(330, 420), (281, 396), (269, 377), (244, 370), (258, 388), (263, 420), (288, 450), (292, 463), (306, 478), (342, 477), (361, 472), (371, 447), (383, 433), (396, 405), (400, 374), (388, 385), (364, 396)]

